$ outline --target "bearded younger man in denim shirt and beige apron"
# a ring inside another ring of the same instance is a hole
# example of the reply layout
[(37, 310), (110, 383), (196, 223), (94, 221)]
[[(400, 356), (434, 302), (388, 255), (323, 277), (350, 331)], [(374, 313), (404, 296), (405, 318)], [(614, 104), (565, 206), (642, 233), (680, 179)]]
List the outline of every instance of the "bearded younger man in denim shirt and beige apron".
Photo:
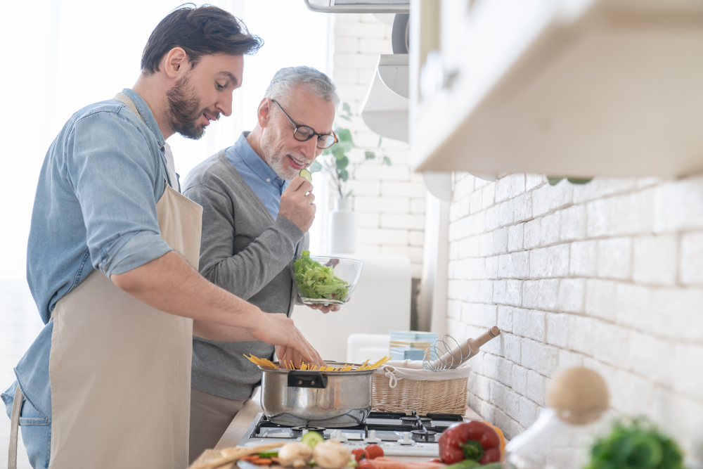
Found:
[(46, 326), (2, 395), (11, 467), (19, 422), (34, 468), (185, 468), (193, 319), (321, 364), (285, 314), (198, 274), (201, 209), (165, 143), (230, 115), (243, 54), (261, 44), (220, 8), (176, 9), (134, 87), (79, 110), (51, 144), (27, 247)]

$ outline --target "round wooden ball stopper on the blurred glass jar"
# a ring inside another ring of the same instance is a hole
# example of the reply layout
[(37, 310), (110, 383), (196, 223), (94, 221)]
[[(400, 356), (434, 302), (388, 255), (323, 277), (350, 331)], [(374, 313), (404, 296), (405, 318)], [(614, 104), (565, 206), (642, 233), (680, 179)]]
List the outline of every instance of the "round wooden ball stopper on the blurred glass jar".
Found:
[(586, 425), (608, 409), (608, 388), (602, 376), (589, 368), (562, 371), (547, 388), (547, 404), (560, 420)]

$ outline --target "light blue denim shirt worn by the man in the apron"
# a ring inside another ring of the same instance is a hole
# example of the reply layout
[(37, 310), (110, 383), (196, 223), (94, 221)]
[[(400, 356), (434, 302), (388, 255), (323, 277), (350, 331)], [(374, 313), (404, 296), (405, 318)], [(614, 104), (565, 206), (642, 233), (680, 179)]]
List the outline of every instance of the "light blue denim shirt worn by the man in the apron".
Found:
[[(27, 282), (46, 324), (15, 367), (22, 393), (51, 421), (49, 352), (56, 302), (93, 269), (122, 274), (171, 250), (156, 203), (172, 184), (165, 140), (146, 102), (124, 89), (138, 116), (116, 99), (72, 115), (39, 174), (27, 245)], [(175, 182), (175, 181), (174, 181)], [(176, 187), (178, 187), (176, 185)], [(14, 383), (2, 394), (10, 415)]]

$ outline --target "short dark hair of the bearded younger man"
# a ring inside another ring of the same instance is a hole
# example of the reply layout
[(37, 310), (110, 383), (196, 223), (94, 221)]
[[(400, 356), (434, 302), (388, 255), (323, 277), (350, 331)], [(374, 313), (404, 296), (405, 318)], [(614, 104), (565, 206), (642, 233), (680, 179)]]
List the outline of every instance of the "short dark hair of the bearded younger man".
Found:
[(141, 56), (141, 70), (149, 75), (158, 72), (162, 57), (174, 47), (183, 48), (195, 67), (204, 55), (253, 55), (263, 45), (260, 37), (250, 34), (241, 20), (222, 8), (183, 4), (151, 33)]

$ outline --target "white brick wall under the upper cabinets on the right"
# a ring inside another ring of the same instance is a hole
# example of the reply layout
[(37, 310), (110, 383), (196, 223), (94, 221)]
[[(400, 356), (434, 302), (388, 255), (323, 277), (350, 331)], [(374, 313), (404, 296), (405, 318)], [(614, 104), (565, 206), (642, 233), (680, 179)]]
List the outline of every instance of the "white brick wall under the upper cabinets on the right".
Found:
[(700, 457), (703, 176), (549, 186), (462, 173), (456, 188), (450, 333), (502, 330), (470, 362), (472, 408), (515, 437), (555, 373), (583, 365), (614, 411), (647, 414)]

